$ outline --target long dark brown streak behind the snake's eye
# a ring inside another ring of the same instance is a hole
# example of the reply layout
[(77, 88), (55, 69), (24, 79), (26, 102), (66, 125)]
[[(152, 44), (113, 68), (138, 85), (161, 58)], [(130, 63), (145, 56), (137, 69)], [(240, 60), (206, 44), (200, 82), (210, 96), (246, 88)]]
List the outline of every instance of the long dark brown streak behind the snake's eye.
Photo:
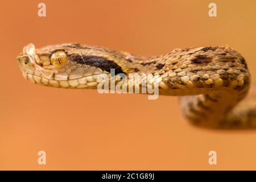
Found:
[(69, 56), (69, 59), (71, 59), (71, 61), (75, 61), (76, 63), (97, 67), (107, 72), (110, 72), (110, 69), (114, 69), (115, 75), (117, 75), (118, 73), (126, 74), (122, 71), (122, 68), (118, 64), (108, 59), (105, 59), (104, 57), (71, 55)]

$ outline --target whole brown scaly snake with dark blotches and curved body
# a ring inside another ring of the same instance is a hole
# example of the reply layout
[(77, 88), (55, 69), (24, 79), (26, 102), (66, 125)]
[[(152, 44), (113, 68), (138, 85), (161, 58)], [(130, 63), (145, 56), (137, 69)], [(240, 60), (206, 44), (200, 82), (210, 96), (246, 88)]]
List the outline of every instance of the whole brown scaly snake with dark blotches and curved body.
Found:
[[(228, 46), (176, 48), (159, 56), (137, 56), (80, 43), (42, 48), (28, 44), (17, 60), (26, 80), (55, 88), (97, 89), (100, 74), (111, 79), (118, 74), (151, 73), (158, 75), (160, 97), (179, 96), (181, 114), (192, 125), (256, 128), (256, 89), (250, 86), (249, 68), (242, 55)], [(170, 104), (167, 101), (164, 107)], [(172, 118), (171, 112), (162, 114)]]

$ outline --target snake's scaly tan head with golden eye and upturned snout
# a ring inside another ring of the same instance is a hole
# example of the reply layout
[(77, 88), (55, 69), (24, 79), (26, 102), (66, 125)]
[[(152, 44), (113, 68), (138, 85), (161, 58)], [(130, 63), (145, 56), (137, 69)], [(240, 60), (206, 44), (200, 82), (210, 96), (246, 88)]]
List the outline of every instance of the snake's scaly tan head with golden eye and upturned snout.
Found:
[(110, 74), (110, 68), (121, 71), (108, 57), (105, 49), (77, 43), (38, 49), (33, 44), (28, 44), (17, 60), (23, 77), (32, 83), (58, 88), (96, 88), (99, 74)]

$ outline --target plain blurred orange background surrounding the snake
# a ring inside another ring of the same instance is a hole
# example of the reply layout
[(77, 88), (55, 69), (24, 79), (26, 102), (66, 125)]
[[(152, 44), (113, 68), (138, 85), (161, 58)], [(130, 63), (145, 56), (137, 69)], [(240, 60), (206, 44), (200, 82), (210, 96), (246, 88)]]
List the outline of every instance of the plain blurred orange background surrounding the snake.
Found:
[[(30, 84), (16, 56), (23, 46), (79, 42), (159, 55), (174, 48), (237, 49), (256, 78), (256, 2), (0, 2), (0, 169), (256, 169), (255, 131), (198, 129), (181, 118), (177, 97), (98, 94)], [(38, 151), (47, 165), (38, 165)], [(217, 165), (208, 152), (217, 152)]]

